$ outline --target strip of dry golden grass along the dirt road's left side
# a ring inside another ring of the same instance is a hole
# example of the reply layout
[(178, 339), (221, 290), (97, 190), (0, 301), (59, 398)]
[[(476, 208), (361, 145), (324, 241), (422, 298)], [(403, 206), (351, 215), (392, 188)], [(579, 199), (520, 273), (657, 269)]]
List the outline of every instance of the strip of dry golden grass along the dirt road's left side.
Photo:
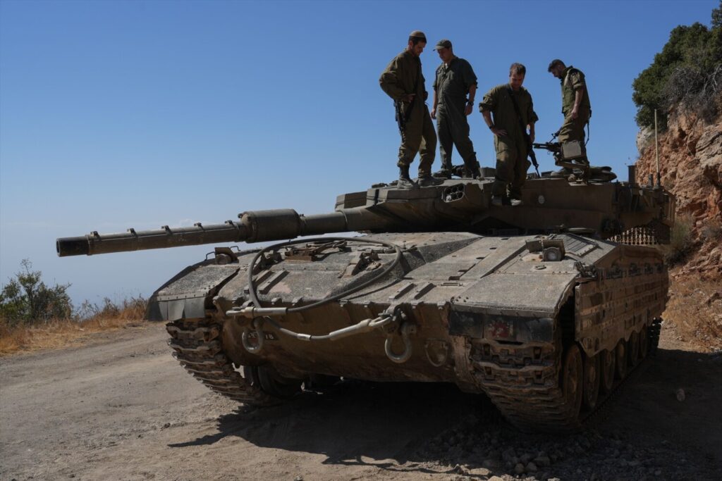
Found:
[(0, 356), (31, 350), (62, 348), (82, 343), (95, 332), (144, 324), (143, 299), (123, 301), (121, 306), (115, 307), (117, 309), (102, 309), (88, 319), (53, 319), (35, 325), (10, 325), (6, 319), (0, 318)]

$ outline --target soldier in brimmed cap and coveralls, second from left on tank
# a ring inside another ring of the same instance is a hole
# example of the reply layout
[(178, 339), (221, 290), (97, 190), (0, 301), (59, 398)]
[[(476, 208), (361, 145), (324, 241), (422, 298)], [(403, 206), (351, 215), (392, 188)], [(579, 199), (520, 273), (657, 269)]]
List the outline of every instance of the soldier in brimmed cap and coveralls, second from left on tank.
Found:
[(431, 118), (436, 119), (441, 153), (441, 170), (435, 175), (451, 178), (451, 153), (456, 145), (456, 150), (464, 159), (467, 175), (481, 177), (477, 153), (469, 138), (469, 123), (466, 121), (466, 116), (474, 106), (477, 76), (469, 62), (453, 54), (451, 41), (440, 40), (434, 50), (442, 61), (436, 69), (434, 105), (431, 109)]

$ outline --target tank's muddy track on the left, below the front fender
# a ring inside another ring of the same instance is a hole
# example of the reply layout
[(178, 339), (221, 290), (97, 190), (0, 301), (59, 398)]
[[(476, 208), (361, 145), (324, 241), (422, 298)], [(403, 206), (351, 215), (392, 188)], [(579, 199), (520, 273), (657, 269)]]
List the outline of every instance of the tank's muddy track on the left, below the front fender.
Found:
[(223, 352), (222, 324), (213, 319), (181, 319), (169, 322), (168, 345), (191, 376), (230, 399), (252, 406), (277, 405), (282, 400), (262, 391), (236, 371)]

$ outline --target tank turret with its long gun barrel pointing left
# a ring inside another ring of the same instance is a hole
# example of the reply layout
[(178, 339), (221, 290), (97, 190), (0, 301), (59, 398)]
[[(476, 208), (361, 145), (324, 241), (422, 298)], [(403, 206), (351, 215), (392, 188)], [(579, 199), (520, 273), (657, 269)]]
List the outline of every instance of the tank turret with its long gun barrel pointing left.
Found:
[(250, 211), (240, 213), (238, 221), (225, 224), (128, 229), (118, 234), (93, 231), (86, 236), (58, 239), (56, 248), (64, 257), (355, 231), (534, 234), (562, 226), (588, 229), (606, 239), (649, 224), (656, 226), (658, 240), (665, 242), (674, 220), (674, 201), (664, 190), (654, 187), (532, 179), (526, 182), (523, 205), (515, 208), (492, 206), (490, 187), (491, 180), (447, 180), (440, 186), (416, 189), (378, 185), (365, 192), (340, 195), (332, 213), (304, 216), (292, 209)]

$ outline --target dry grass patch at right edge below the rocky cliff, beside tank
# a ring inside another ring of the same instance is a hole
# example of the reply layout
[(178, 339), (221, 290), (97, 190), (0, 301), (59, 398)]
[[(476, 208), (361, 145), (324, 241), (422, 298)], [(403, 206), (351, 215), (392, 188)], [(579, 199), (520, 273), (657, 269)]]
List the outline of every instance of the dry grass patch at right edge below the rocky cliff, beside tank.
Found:
[(722, 281), (672, 274), (663, 314), (666, 327), (674, 330), (679, 341), (704, 350), (721, 350)]

